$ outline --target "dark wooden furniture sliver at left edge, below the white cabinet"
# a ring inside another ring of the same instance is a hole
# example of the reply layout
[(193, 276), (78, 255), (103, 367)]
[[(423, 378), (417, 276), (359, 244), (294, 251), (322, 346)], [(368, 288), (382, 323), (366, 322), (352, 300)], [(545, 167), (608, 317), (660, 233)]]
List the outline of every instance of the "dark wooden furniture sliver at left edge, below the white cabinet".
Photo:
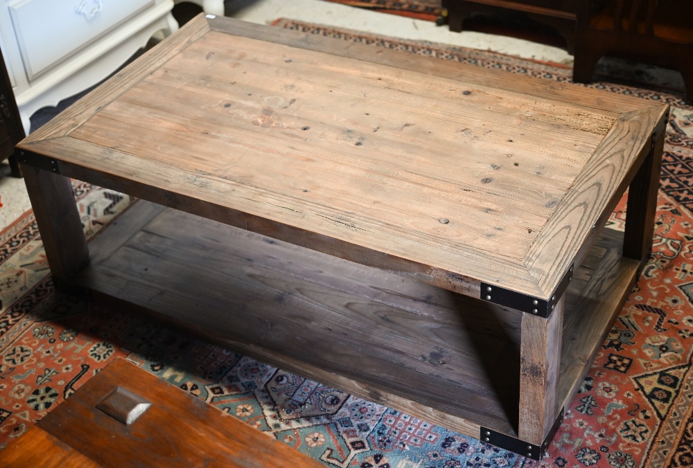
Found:
[(2, 51), (0, 51), (0, 69), (0, 161), (9, 159), (12, 175), (21, 177), (19, 166), (12, 154), (15, 152), (15, 145), (25, 135)]

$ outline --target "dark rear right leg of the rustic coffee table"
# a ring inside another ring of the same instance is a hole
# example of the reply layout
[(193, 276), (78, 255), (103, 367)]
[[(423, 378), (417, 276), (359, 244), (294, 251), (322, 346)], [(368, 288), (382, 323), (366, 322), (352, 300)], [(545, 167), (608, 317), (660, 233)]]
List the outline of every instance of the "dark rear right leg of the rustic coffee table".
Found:
[(652, 149), (628, 188), (623, 255), (643, 262), (652, 249), (664, 137), (665, 129), (656, 134)]

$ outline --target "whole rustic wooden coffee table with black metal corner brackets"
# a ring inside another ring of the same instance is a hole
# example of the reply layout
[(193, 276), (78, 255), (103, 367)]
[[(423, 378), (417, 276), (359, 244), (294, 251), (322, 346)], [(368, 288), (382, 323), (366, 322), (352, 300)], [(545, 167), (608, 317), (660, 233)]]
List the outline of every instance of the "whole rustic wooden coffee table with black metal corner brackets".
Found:
[[(647, 260), (667, 112), (200, 16), (18, 156), (57, 280), (538, 458)], [(146, 201), (87, 248), (69, 177)]]

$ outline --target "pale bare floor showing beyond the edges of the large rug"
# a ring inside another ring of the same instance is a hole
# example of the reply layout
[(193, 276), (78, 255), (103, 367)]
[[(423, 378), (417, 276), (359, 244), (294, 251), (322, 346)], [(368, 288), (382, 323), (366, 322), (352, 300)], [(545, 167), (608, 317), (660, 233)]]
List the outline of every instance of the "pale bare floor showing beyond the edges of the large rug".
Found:
[[(560, 48), (469, 31), (461, 34), (450, 33), (446, 26), (435, 26), (430, 21), (386, 15), (323, 0), (227, 0), (225, 7), (227, 16), (255, 23), (268, 24), (281, 17), (301, 19), (404, 39), (491, 49), (552, 62), (569, 63), (572, 60), (572, 57)], [(8, 174), (8, 166), (0, 165), (0, 229), (8, 226), (30, 208), (24, 182), (9, 177)]]

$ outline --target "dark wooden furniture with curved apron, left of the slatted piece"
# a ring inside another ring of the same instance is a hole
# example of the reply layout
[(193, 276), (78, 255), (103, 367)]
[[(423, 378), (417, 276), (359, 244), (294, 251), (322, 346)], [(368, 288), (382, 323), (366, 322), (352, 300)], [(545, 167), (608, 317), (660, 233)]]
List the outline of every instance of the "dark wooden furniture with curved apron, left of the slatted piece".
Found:
[(464, 21), (473, 15), (502, 15), (511, 10), (554, 28), (565, 39), (568, 52), (573, 53), (577, 3), (577, 0), (447, 0), (444, 6), (451, 31), (461, 33)]

